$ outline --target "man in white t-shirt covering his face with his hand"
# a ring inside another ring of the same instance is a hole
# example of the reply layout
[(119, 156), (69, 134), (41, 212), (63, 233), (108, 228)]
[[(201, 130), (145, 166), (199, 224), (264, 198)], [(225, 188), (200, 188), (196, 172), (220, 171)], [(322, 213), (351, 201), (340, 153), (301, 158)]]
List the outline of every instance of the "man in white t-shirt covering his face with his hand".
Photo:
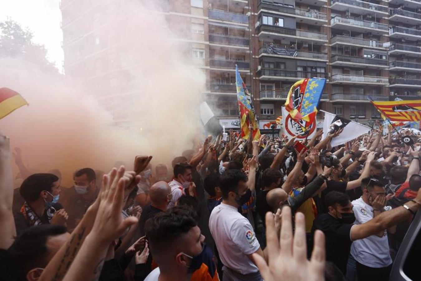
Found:
[[(355, 214), (354, 224), (364, 224), (384, 211), (392, 209), (386, 205), (384, 185), (375, 178), (361, 181), (362, 196), (352, 201)], [(352, 257), (357, 261), (358, 281), (389, 280), (392, 259), (389, 253), (387, 232), (395, 227), (381, 230), (367, 238), (355, 240), (351, 246)]]

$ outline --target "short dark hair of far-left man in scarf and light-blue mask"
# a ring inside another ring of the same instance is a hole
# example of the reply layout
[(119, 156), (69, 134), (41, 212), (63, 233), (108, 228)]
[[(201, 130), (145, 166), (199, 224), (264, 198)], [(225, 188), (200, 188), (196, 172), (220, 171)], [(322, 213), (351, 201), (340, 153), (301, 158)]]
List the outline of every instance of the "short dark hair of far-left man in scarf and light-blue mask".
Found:
[(53, 184), (59, 178), (53, 174), (39, 173), (27, 177), (21, 184), (20, 194), (27, 202), (34, 202), (40, 198), (40, 192), (52, 192)]

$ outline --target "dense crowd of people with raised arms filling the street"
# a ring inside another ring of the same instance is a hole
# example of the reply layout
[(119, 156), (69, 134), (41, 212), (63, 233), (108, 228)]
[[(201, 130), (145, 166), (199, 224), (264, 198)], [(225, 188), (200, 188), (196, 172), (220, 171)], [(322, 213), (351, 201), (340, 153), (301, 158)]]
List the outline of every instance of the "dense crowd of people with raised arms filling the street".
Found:
[(340, 133), (299, 151), (203, 136), (171, 166), (134, 151), (106, 173), (80, 167), (71, 187), (1, 135), (0, 279), (389, 280), (421, 208), (421, 139), (380, 128), (331, 147)]

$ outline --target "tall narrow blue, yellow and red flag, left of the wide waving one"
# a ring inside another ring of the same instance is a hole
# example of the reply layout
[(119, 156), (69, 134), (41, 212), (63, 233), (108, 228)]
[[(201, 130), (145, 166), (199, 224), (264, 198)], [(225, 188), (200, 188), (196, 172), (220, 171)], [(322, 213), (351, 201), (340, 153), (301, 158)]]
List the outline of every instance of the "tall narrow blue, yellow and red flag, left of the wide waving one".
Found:
[(253, 140), (258, 140), (260, 138), (260, 130), (256, 111), (254, 111), (250, 93), (242, 81), (237, 65), (235, 65), (235, 82), (237, 84), (237, 101), (239, 108), (238, 111), (240, 112), (241, 137), (248, 139), (250, 134), (248, 126), (251, 124), (253, 126), (253, 131), (251, 132), (253, 134)]

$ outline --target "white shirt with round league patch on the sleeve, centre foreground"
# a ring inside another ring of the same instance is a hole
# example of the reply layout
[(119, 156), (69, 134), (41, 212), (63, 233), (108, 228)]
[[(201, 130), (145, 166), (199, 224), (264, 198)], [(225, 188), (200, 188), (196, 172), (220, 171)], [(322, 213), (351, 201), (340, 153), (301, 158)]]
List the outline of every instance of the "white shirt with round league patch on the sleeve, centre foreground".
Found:
[(237, 208), (221, 203), (213, 208), (209, 218), (210, 233), (218, 248), (222, 263), (241, 274), (258, 272), (247, 257), (260, 248), (253, 227)]

